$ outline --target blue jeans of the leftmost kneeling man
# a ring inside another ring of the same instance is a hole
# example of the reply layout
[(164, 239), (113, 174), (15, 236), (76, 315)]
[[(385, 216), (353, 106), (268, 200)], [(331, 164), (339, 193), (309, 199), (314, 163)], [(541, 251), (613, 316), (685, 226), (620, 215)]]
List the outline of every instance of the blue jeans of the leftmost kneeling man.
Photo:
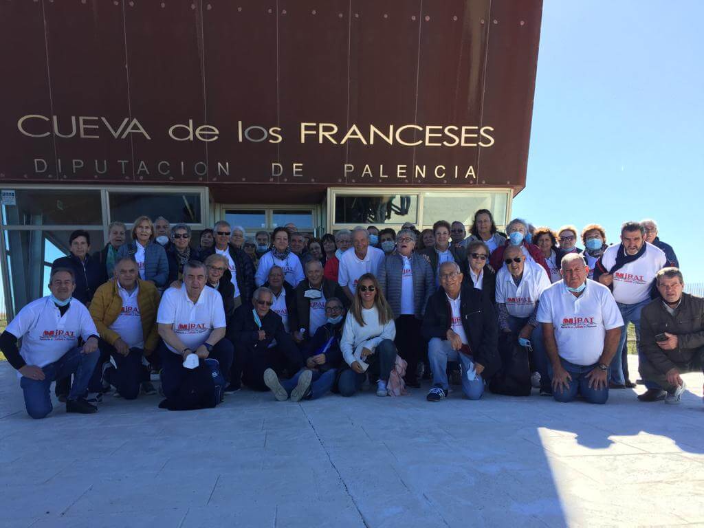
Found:
[(51, 405), (51, 382), (73, 376), (73, 384), (68, 393), (69, 400), (85, 396), (88, 382), (98, 363), (100, 351), (84, 354), (81, 348), (72, 348), (54, 363), (42, 367), (44, 379), (20, 378), (20, 386), (25, 394), (25, 408), (32, 418), (43, 418), (54, 408)]

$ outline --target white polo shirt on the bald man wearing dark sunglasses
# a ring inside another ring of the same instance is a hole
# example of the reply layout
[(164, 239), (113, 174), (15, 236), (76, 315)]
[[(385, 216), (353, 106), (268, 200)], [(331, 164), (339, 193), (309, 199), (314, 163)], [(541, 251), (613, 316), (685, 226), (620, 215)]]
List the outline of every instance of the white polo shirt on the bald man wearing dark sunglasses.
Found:
[(527, 318), (535, 310), (540, 295), (550, 286), (550, 279), (539, 264), (524, 262), (523, 277), (516, 286), (508, 266), (502, 266), (496, 274), (496, 302), (506, 305), (509, 315)]

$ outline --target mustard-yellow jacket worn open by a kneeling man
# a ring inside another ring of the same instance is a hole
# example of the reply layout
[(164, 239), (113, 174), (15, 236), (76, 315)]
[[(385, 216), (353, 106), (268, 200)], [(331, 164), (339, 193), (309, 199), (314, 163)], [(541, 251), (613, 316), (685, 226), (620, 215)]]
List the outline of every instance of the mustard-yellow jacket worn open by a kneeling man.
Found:
[[(149, 356), (159, 340), (156, 311), (160, 296), (156, 286), (151, 282), (137, 277), (137, 285), (139, 286), (137, 306), (139, 306), (139, 317), (142, 319), (142, 332), (144, 332), (144, 355)], [(120, 310), (122, 310), (122, 297), (118, 292), (118, 284), (115, 279), (110, 279), (96, 290), (89, 311), (101, 339), (111, 345), (120, 338), (117, 332), (110, 329), (110, 325), (120, 315)]]

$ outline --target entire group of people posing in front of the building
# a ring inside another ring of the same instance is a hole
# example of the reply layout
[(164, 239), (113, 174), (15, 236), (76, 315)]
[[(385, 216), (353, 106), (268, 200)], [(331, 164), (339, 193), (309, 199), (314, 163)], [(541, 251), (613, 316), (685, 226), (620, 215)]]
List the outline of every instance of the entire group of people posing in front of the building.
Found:
[(635, 386), (629, 322), (641, 401), (678, 403), (681, 374), (702, 370), (704, 300), (684, 293), (653, 220), (624, 223), (612, 245), (596, 224), (555, 232), (517, 218), (498, 232), (486, 209), (469, 233), (440, 220), (320, 239), (287, 225), (250, 240), (220, 221), (194, 244), (188, 225), (141, 216), (127, 234), (113, 222), (91, 254), (89, 233), (73, 232), (51, 294), (0, 335), (30, 416), (51, 413), (52, 382), (68, 412), (94, 413), (109, 391), (156, 394), (156, 379), (170, 410), (215, 407), (243, 384), (301, 401), (367, 380), (398, 396), (432, 379), (428, 401), (451, 385), (478, 400), (486, 387), (513, 394), (517, 371), (527, 394), (605, 403)]

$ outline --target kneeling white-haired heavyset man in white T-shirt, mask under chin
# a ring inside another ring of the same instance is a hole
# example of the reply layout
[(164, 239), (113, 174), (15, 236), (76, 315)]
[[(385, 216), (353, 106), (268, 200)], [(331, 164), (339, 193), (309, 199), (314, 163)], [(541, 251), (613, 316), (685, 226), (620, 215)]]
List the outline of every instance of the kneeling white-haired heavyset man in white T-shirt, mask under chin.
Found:
[(611, 292), (587, 279), (589, 266), (579, 253), (562, 258), (562, 280), (540, 296), (538, 321), (553, 365), (553, 398), (606, 403), (608, 370), (618, 348), (623, 318)]

